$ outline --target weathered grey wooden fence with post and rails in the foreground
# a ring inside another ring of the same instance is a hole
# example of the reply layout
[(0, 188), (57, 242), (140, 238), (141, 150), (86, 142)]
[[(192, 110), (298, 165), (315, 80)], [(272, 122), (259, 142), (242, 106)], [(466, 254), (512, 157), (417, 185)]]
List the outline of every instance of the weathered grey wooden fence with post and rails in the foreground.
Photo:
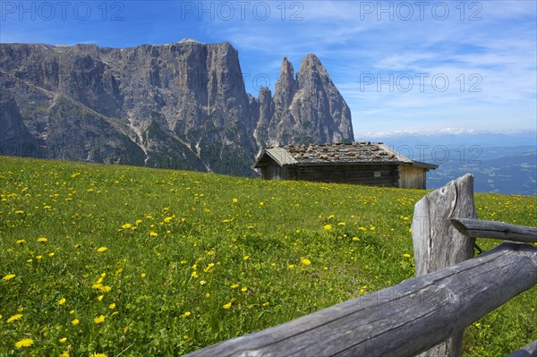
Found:
[[(460, 356), (466, 326), (537, 285), (537, 228), (475, 218), (467, 174), (416, 203), (416, 277), (187, 356)], [(476, 236), (514, 242), (472, 259)], [(509, 357), (528, 356), (537, 340)]]

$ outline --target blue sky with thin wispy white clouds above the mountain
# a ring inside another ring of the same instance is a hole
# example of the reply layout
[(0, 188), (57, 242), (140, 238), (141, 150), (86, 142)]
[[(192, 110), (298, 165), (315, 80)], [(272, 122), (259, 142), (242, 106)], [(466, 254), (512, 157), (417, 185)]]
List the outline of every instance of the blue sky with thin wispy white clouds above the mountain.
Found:
[(246, 89), (315, 54), (354, 135), (537, 130), (537, 1), (4, 1), (0, 42), (229, 41)]

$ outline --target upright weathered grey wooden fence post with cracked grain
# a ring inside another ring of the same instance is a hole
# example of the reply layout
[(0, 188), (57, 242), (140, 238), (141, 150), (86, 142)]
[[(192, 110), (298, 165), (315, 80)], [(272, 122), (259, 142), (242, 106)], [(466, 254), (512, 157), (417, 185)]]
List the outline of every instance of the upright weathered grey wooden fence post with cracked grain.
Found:
[[(430, 192), (414, 206), (412, 239), (416, 276), (430, 274), (473, 258), (475, 238), (465, 237), (450, 218), (477, 217), (473, 203), (473, 175), (465, 174)], [(459, 357), (464, 330), (420, 353), (420, 357)]]

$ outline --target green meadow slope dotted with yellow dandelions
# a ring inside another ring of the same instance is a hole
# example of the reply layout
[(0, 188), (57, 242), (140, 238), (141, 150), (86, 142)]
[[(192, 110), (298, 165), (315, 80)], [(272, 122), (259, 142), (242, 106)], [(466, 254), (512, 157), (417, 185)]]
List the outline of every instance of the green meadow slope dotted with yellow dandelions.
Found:
[[(14, 157), (0, 183), (0, 355), (181, 354), (395, 285), (426, 193)], [(536, 225), (535, 197), (476, 206)], [(536, 289), (468, 327), (465, 353), (533, 340)]]

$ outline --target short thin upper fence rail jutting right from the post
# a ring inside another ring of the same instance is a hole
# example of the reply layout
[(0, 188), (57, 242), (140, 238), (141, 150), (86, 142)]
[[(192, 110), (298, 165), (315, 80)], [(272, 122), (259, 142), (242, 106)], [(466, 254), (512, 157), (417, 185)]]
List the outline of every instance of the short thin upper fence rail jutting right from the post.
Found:
[(537, 242), (537, 227), (509, 225), (468, 218), (451, 218), (451, 224), (467, 237), (497, 238), (513, 242)]

